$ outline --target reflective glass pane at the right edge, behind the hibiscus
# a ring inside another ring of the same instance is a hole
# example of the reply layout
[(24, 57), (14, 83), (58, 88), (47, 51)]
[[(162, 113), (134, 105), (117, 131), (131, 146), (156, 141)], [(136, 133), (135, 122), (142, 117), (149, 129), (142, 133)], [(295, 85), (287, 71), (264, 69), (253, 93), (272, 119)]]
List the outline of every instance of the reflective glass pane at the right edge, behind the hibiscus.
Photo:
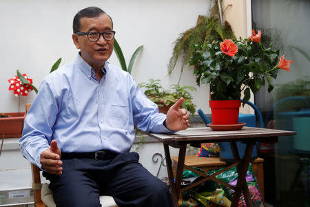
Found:
[[(265, 201), (275, 206), (309, 206), (310, 189), (310, 1), (252, 0), (252, 21), (262, 43), (293, 60), (291, 71), (280, 70), (269, 94), (262, 88), (255, 103), (266, 128), (294, 130), (265, 146)], [(261, 148), (260, 148), (261, 149)]]

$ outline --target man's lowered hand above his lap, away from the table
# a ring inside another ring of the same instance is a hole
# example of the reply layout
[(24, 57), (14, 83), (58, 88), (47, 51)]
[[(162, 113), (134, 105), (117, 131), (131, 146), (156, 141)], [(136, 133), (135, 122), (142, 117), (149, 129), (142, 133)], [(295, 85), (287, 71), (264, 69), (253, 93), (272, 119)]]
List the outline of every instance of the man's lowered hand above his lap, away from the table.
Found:
[(63, 173), (63, 162), (61, 158), (61, 149), (57, 146), (57, 141), (52, 140), (50, 148), (41, 152), (40, 163), (42, 168), (50, 174), (61, 175)]

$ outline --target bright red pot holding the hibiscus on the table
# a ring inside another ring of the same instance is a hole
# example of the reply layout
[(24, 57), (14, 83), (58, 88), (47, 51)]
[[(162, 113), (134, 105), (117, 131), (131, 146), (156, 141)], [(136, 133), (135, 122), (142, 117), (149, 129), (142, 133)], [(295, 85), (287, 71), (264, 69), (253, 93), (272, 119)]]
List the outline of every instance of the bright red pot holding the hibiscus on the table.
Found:
[(212, 124), (238, 124), (241, 100), (209, 101)]

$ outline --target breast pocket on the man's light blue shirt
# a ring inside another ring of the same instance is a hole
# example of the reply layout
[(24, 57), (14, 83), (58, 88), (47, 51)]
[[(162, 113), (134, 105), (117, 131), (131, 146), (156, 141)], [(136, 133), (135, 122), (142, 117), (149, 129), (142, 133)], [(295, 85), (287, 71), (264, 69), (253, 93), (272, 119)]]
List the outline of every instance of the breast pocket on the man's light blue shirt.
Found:
[(128, 106), (121, 106), (117, 104), (111, 105), (110, 123), (116, 128), (127, 130), (129, 121), (129, 108)]

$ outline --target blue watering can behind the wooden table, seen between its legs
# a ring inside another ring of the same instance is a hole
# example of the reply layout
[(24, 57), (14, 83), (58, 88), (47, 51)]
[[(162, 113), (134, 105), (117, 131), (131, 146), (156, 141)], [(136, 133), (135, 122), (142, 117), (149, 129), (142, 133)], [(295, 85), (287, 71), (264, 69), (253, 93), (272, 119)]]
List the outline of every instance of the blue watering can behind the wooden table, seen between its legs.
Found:
[[(247, 104), (254, 108), (256, 115), (247, 115), (247, 114), (239, 114), (239, 123), (245, 122), (247, 123), (245, 126), (251, 126), (251, 127), (256, 127), (256, 116), (258, 117), (258, 124), (259, 127), (263, 127), (263, 122), (262, 122), (262, 114), (260, 113), (260, 110), (254, 105), (254, 103), (251, 103), (250, 101), (247, 101)], [(211, 124), (209, 119), (205, 116), (202, 110), (198, 110), (198, 114), (200, 115), (201, 119), (203, 119), (203, 122), (205, 125)], [(241, 141), (237, 141), (237, 148), (238, 152), (241, 158), (245, 155), (245, 148), (247, 144), (241, 143)], [(218, 142), (218, 146), (220, 146), (220, 161), (225, 161), (225, 162), (233, 162), (234, 161), (234, 155), (231, 152), (231, 147), (229, 142)], [(254, 146), (253, 152), (251, 159), (256, 159), (257, 158), (257, 146)]]

